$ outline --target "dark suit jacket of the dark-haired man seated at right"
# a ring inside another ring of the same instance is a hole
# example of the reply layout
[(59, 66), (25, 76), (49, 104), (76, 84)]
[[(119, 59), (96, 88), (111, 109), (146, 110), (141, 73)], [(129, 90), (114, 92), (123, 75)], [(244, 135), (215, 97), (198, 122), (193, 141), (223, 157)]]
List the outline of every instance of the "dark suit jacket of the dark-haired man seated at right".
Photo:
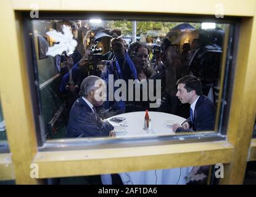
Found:
[(185, 122), (189, 123), (191, 129), (183, 129), (179, 127), (176, 132), (183, 131), (209, 131), (214, 129), (215, 125), (215, 114), (216, 108), (212, 101), (205, 97), (205, 95), (200, 95), (196, 102), (196, 107), (194, 111), (194, 123), (191, 121), (191, 117), (186, 119)]

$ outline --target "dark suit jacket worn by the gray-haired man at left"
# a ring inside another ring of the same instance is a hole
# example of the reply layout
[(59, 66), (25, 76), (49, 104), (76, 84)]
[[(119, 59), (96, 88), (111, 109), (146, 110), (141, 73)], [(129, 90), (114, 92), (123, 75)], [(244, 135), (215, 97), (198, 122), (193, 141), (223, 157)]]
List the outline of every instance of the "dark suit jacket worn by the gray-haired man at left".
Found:
[(67, 126), (68, 137), (104, 137), (109, 136), (109, 132), (114, 127), (108, 123), (103, 123), (99, 116), (95, 116), (93, 110), (87, 105), (83, 98), (78, 98), (70, 110)]

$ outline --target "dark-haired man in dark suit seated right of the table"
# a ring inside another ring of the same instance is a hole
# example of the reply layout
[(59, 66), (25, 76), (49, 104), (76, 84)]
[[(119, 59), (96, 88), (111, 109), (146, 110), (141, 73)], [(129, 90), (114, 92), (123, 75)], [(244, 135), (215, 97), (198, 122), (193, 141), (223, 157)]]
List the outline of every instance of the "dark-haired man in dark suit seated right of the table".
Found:
[(181, 103), (190, 104), (190, 117), (182, 125), (173, 124), (174, 132), (209, 131), (215, 126), (216, 108), (209, 98), (202, 95), (202, 84), (195, 76), (184, 76), (176, 83), (176, 96)]

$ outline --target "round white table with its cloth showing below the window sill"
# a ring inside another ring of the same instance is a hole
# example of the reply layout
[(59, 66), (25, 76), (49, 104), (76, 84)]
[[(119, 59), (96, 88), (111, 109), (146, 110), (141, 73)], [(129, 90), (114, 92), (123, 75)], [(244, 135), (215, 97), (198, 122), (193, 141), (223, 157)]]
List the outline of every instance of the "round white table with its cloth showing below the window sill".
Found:
[[(180, 116), (149, 111), (149, 118), (152, 121), (152, 130), (147, 131), (143, 129), (145, 113), (145, 111), (138, 111), (113, 116), (126, 118), (126, 120), (122, 123), (114, 123), (112, 121), (109, 121), (109, 123), (115, 128), (120, 127), (118, 124), (127, 125), (122, 126), (122, 129), (125, 129), (125, 131), (116, 132), (117, 137), (142, 137), (148, 135), (175, 135), (172, 131), (172, 126), (167, 126), (165, 121), (173, 121), (179, 124), (185, 121), (185, 119)], [(189, 176), (191, 170), (192, 167), (178, 167), (175, 169), (123, 172), (119, 173), (119, 175), (124, 185), (184, 185), (187, 182), (186, 177)], [(110, 174), (101, 175), (101, 180), (104, 185), (112, 184)]]

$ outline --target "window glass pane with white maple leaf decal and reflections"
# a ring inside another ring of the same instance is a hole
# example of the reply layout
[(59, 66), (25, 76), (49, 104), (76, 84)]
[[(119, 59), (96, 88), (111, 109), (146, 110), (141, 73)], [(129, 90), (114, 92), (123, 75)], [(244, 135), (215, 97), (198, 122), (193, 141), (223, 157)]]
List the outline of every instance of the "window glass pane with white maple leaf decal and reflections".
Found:
[(46, 139), (215, 128), (228, 24), (95, 18), (31, 24)]

